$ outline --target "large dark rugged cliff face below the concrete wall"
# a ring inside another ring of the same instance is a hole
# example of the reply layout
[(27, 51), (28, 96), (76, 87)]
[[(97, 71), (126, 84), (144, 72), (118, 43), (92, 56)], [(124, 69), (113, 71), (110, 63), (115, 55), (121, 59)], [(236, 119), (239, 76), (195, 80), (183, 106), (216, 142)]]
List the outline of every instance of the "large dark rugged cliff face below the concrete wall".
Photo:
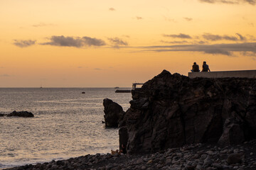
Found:
[(256, 79), (189, 79), (164, 70), (132, 91), (130, 103), (119, 130), (130, 154), (256, 137)]

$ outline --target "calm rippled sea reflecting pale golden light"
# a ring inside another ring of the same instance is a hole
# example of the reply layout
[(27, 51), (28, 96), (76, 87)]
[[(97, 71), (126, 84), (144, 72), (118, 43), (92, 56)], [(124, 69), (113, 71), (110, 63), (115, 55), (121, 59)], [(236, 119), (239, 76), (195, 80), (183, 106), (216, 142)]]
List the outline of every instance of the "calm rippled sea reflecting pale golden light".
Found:
[(102, 124), (102, 102), (110, 98), (126, 111), (132, 95), (114, 91), (0, 88), (0, 113), (29, 111), (35, 115), (0, 117), (0, 169), (118, 149), (118, 129)]

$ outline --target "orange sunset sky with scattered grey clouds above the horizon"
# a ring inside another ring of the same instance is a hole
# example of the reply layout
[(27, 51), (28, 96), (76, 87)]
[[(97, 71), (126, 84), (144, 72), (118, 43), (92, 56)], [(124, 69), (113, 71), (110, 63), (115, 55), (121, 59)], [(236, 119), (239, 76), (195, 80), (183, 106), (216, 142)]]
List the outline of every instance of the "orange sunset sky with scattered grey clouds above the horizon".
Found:
[(256, 69), (256, 0), (1, 0), (0, 87), (131, 87)]

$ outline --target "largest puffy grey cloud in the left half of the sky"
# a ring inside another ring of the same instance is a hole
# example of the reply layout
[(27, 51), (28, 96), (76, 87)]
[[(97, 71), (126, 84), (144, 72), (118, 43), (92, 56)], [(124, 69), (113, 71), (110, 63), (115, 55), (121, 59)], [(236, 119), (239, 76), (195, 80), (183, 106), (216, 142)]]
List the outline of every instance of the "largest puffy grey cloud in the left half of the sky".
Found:
[(65, 37), (53, 35), (50, 39), (50, 42), (41, 43), (41, 45), (54, 45), (62, 47), (90, 47), (90, 46), (103, 46), (106, 45), (104, 40), (90, 37)]

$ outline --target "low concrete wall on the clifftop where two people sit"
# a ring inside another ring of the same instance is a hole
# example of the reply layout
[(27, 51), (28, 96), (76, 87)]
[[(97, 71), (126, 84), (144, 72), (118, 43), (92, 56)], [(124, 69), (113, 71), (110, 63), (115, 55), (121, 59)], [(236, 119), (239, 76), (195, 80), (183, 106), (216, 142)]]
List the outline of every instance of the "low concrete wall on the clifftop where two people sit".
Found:
[(189, 72), (188, 77), (191, 79), (196, 77), (205, 77), (205, 78), (245, 77), (245, 78), (256, 79), (256, 69), (240, 70), (240, 71), (225, 71), (225, 72)]

